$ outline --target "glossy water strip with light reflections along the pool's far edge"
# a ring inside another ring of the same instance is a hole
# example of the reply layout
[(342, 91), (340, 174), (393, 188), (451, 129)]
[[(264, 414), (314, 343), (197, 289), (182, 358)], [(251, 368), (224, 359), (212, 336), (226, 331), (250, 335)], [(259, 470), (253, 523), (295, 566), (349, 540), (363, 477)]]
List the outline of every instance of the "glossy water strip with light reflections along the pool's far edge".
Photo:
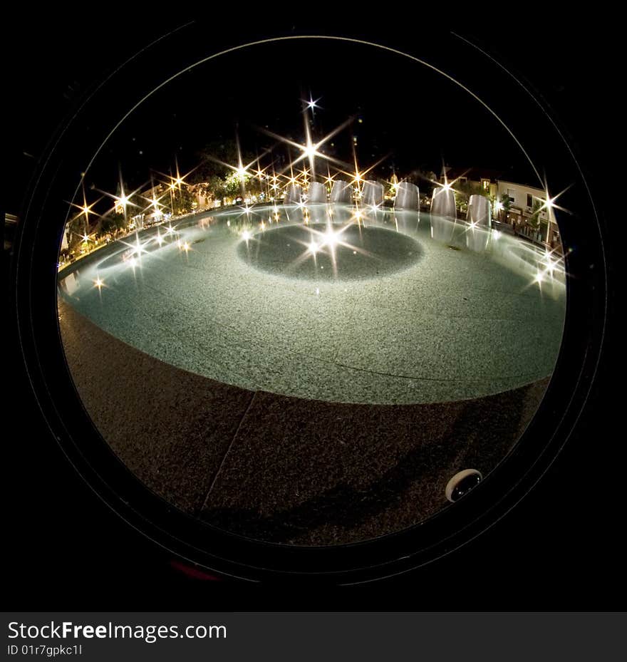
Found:
[[(237, 210), (202, 214), (201, 217), (185, 219), (176, 224), (170, 232), (164, 227), (142, 230), (126, 239), (114, 242), (95, 254), (78, 262), (80, 267), (70, 269), (71, 273), (62, 278), (61, 287), (66, 294), (75, 294), (80, 289), (78, 272), (83, 271), (87, 279), (114, 275), (120, 269), (149, 267), (152, 257), (166, 259), (168, 253), (192, 249), (204, 234), (212, 230), (217, 234), (231, 234), (238, 241), (257, 244), (263, 249), (264, 233), (276, 227), (302, 225), (343, 228), (382, 227), (394, 229), (408, 237), (445, 244), (455, 249), (466, 249), (476, 254), (485, 254), (506, 269), (526, 276), (529, 282), (538, 282), (561, 296), (565, 286), (564, 264), (559, 256), (547, 259), (547, 252), (523, 239), (504, 234), (497, 229), (472, 227), (466, 222), (445, 217), (431, 216), (419, 212), (395, 210), (371, 210), (348, 205), (301, 205), (255, 207), (251, 210)], [(311, 242), (318, 242), (318, 229), (311, 229)], [(373, 256), (375, 258), (375, 256)]]

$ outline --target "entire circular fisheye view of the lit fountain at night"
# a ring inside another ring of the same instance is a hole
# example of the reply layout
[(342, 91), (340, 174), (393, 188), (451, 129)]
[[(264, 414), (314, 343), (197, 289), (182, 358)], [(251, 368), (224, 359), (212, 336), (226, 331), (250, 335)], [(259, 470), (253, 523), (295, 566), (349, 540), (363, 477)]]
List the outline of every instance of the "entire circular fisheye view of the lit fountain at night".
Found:
[(120, 462), (198, 522), (309, 547), (402, 532), (482, 490), (534, 418), (566, 319), (559, 191), (427, 63), (234, 49), (76, 167), (69, 371)]

